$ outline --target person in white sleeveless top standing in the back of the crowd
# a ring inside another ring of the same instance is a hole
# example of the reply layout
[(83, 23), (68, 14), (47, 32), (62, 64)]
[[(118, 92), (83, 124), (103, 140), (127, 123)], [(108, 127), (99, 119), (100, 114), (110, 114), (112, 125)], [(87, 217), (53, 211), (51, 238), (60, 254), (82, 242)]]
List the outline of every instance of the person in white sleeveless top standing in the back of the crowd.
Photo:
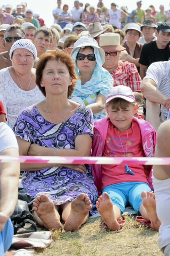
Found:
[(111, 3), (111, 10), (109, 10), (109, 24), (113, 25), (115, 28), (121, 29), (120, 18), (126, 18), (128, 14), (123, 10), (117, 9), (117, 7), (117, 4)]

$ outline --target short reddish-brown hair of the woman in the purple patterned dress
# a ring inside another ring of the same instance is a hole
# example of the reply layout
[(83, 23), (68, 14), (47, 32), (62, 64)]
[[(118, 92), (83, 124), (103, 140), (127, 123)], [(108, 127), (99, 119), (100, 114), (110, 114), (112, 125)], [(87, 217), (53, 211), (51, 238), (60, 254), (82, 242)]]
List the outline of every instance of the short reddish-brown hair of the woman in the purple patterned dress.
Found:
[(75, 73), (75, 65), (71, 56), (65, 51), (55, 51), (55, 52), (48, 52), (41, 55), (41, 58), (38, 60), (37, 68), (36, 68), (36, 84), (38, 85), (40, 91), (45, 96), (45, 88), (41, 87), (43, 70), (49, 60), (60, 60), (63, 62), (69, 71), (69, 75), (72, 79), (72, 85), (68, 88), (67, 98), (70, 98), (74, 89), (75, 84), (78, 80), (77, 75)]

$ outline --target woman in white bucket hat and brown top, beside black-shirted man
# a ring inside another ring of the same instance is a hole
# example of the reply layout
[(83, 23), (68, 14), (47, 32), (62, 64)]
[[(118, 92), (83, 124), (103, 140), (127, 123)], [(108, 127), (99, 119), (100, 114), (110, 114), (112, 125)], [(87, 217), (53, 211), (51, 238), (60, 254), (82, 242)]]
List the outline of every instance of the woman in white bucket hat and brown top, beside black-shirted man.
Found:
[[(130, 23), (127, 26), (125, 34), (126, 34), (126, 42), (123, 44), (123, 46), (126, 48), (127, 53), (130, 56), (132, 56), (133, 58), (139, 59), (140, 52), (143, 46), (143, 44), (138, 43), (139, 37), (142, 35), (140, 31), (140, 26), (136, 23)], [(137, 69), (139, 72), (140, 68), (137, 67)]]

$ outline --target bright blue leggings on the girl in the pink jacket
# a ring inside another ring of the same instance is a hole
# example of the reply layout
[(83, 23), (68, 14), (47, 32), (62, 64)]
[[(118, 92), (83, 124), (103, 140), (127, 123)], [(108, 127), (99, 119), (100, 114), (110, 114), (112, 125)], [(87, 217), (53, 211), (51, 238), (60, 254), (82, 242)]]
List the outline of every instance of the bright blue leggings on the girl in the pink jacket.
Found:
[(152, 192), (148, 183), (145, 182), (121, 182), (104, 187), (102, 193), (107, 192), (113, 204), (118, 206), (123, 214), (128, 204), (136, 212), (139, 212), (139, 207), (142, 204), (142, 191)]

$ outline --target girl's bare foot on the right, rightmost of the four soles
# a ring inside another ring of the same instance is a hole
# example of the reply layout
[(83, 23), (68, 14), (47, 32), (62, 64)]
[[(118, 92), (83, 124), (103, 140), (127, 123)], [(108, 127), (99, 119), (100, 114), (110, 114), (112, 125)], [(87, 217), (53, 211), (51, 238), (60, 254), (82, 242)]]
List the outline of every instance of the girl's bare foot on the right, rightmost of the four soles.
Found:
[(158, 230), (160, 227), (160, 220), (158, 219), (157, 213), (156, 213), (156, 203), (155, 203), (155, 195), (152, 192), (149, 191), (142, 191), (141, 193), (142, 197), (142, 204), (144, 208), (146, 209), (148, 220), (151, 222), (151, 228), (154, 230)]

